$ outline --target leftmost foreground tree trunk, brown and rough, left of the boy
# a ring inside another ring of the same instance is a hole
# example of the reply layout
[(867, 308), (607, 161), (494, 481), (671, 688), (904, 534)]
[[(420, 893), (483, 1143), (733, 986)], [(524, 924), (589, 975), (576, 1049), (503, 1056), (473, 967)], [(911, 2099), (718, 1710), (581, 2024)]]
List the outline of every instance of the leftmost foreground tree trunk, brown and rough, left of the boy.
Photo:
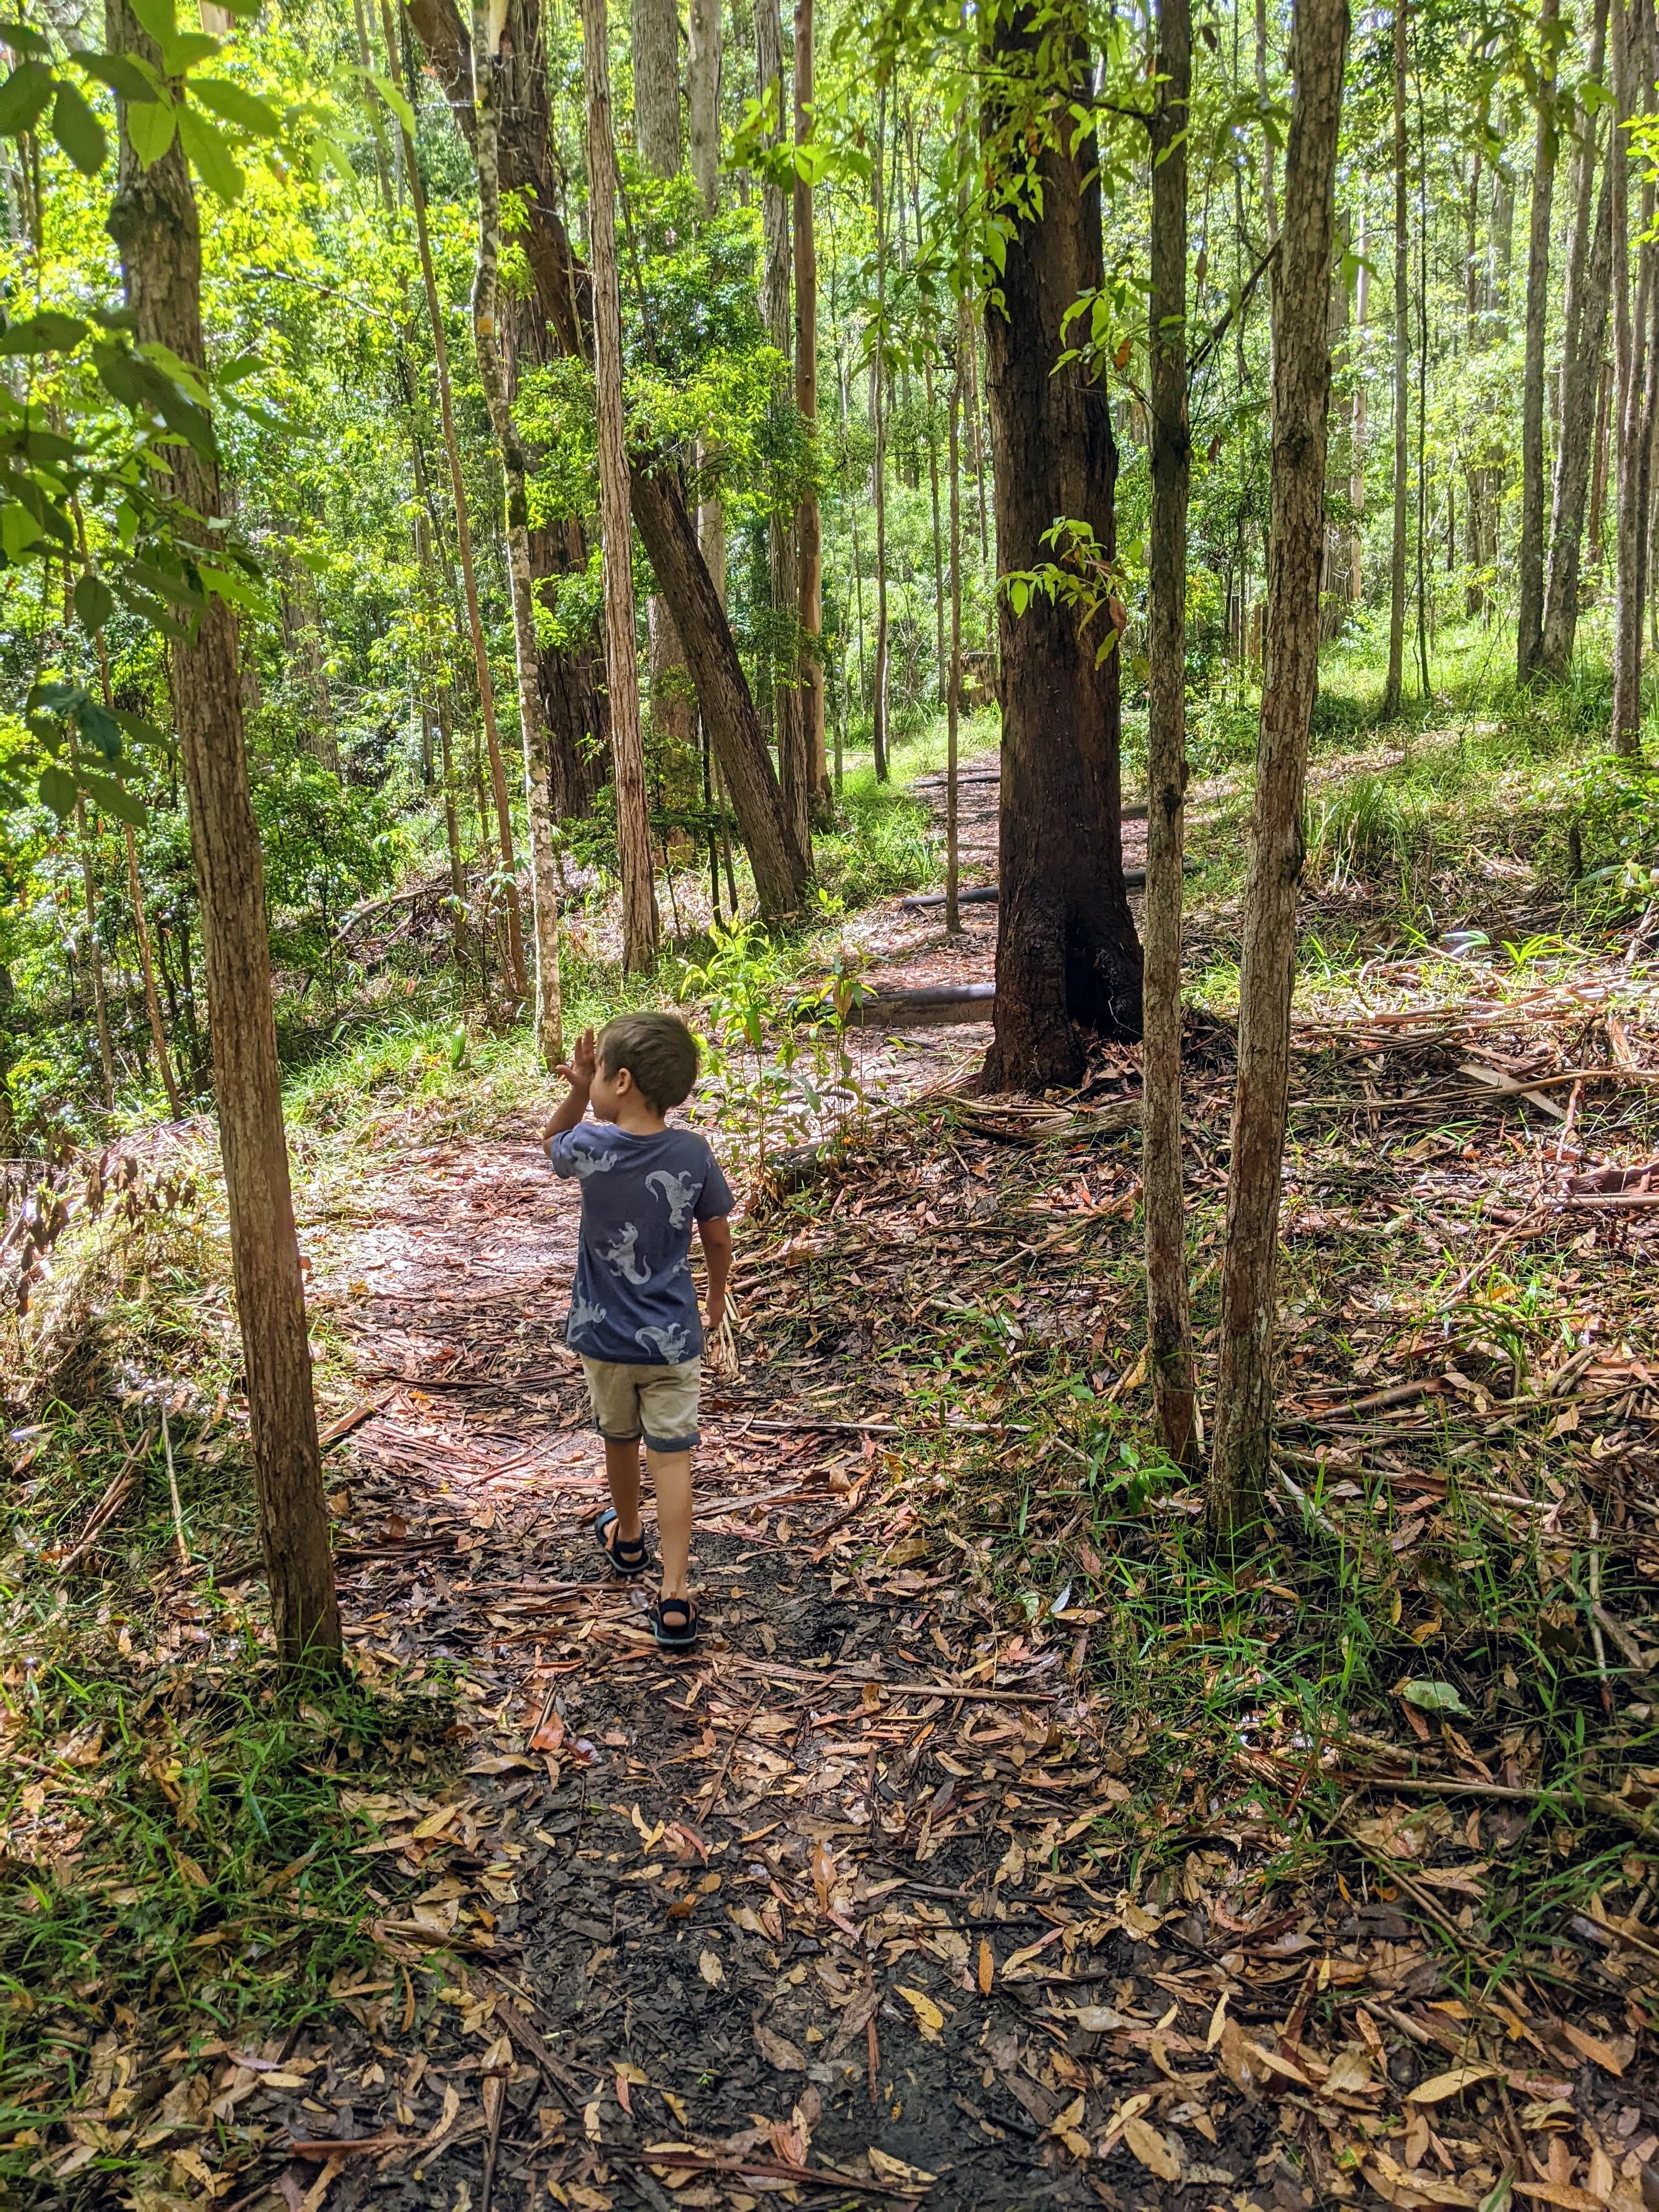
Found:
[[(159, 49), (128, 0), (106, 0), (106, 22), (115, 53), (159, 69)], [(170, 93), (184, 97), (177, 82)], [(108, 230), (122, 257), (133, 330), (139, 345), (164, 345), (201, 374), (201, 228), (190, 170), (177, 139), (142, 168), (126, 104), (117, 106), (122, 146)], [(208, 524), (223, 513), (217, 460), (204, 460), (195, 447), (173, 447), (173, 489)], [(173, 646), (173, 712), (190, 796), (230, 1265), (276, 1657), (290, 1674), (334, 1670), (341, 1615), (288, 1181), (265, 880), (248, 796), (237, 624), (223, 599), (212, 597), (195, 637)]]

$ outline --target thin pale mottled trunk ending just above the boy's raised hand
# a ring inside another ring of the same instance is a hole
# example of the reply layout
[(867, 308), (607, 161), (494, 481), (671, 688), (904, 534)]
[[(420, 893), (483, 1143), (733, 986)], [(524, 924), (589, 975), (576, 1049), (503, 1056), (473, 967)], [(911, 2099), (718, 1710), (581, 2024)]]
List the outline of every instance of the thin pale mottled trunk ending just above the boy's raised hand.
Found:
[[(498, 18), (500, 22), (500, 18)], [(498, 117), (502, 58), (489, 42), (489, 0), (473, 0), (473, 115), (478, 117), (478, 272), (473, 276), (473, 343), (484, 405), (495, 431), (507, 491), (507, 584), (513, 604), (513, 666), (518, 672), (518, 728), (524, 748), (524, 805), (531, 825), (531, 927), (535, 933), (535, 1046), (544, 1068), (564, 1060), (564, 993), (560, 989), (560, 880), (553, 867), (553, 803), (549, 792), (546, 723), (542, 721), (535, 655), (535, 599), (531, 584), (529, 469), (524, 445), (507, 403), (507, 365), (500, 334), (502, 199)]]

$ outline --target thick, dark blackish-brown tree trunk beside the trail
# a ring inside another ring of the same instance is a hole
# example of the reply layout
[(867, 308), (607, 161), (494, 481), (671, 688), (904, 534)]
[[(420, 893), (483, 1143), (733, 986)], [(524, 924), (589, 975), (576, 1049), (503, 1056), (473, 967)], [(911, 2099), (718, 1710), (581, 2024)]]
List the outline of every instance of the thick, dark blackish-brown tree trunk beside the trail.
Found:
[[(1040, 29), (1035, 0), (989, 20), (993, 73), (1029, 75), (1044, 46), (1046, 113), (1037, 111), (1033, 186), (1009, 181), (1002, 299), (987, 305), (998, 560), (1013, 571), (1051, 557), (1055, 515), (1117, 551), (1117, 442), (1104, 380), (1066, 347), (1062, 316), (1102, 283), (1102, 210), (1093, 137), (1077, 139), (1073, 102), (1088, 84), (1082, 38)], [(1004, 115), (987, 104), (995, 155)], [(1024, 164), (1026, 155), (1018, 153)], [(995, 195), (993, 195), (995, 197)], [(1119, 657), (1095, 666), (1099, 633), (1037, 595), (1015, 617), (1000, 595), (1002, 821), (995, 1037), (991, 1091), (1079, 1082), (1088, 1033), (1137, 1037), (1141, 951), (1124, 891), (1119, 841)], [(1108, 611), (1102, 611), (1108, 622)]]

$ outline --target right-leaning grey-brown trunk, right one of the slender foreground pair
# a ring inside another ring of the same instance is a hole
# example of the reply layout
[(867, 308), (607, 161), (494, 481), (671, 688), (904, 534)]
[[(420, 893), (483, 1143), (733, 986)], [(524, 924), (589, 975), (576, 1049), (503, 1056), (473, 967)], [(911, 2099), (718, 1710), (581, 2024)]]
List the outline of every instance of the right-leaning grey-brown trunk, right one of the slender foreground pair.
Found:
[[(1239, 1088), (1221, 1261), (1221, 1385), (1208, 1489), (1210, 1537), (1234, 1548), (1261, 1524), (1274, 1389), (1274, 1254), (1290, 1093), (1290, 989), (1303, 869), (1307, 732), (1318, 684), (1318, 549), (1332, 356), (1336, 131), (1345, 0), (1298, 0), (1285, 226), (1274, 270), (1272, 522), (1261, 748), (1239, 964)], [(1400, 53), (1396, 42), (1396, 55)]]

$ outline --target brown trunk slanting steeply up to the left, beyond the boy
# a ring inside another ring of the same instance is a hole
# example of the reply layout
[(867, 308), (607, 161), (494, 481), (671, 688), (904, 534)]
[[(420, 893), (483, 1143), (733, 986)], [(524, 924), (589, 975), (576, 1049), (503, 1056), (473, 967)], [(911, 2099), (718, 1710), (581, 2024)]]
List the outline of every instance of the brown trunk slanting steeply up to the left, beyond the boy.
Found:
[[(456, 0), (405, 0), (405, 4), (449, 97), (456, 124), (462, 137), (473, 144), (478, 122), (471, 102), (471, 40)], [(524, 0), (509, 0), (509, 33), (513, 33), (515, 55), (529, 51), (529, 40), (515, 35), (520, 7)], [(513, 66), (511, 97), (502, 104), (500, 122), (500, 184), (504, 192), (522, 195), (520, 243), (535, 299), (560, 352), (591, 361), (593, 276), (573, 252), (557, 212), (560, 186), (553, 164), (546, 71)], [(726, 772), (737, 825), (754, 869), (761, 914), (765, 920), (779, 920), (801, 905), (807, 854), (790, 832), (737, 641), (699, 551), (697, 526), (686, 509), (675, 465), (661, 453), (633, 453), (628, 460), (635, 522), (672, 611), (686, 664), (697, 684), (703, 728)]]

